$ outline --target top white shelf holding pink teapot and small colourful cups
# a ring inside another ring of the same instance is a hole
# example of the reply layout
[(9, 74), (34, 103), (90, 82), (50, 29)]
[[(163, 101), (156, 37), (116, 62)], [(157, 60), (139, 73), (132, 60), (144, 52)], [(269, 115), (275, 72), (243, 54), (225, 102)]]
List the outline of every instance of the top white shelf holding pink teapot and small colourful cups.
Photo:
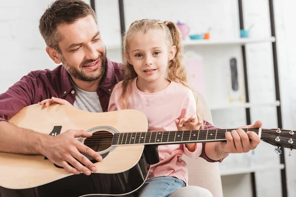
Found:
[(185, 40), (185, 46), (193, 45), (230, 45), (230, 44), (248, 44), (248, 43), (261, 43), (261, 42), (274, 42), (275, 37), (262, 37), (262, 38), (237, 38), (237, 39), (219, 39), (219, 40)]

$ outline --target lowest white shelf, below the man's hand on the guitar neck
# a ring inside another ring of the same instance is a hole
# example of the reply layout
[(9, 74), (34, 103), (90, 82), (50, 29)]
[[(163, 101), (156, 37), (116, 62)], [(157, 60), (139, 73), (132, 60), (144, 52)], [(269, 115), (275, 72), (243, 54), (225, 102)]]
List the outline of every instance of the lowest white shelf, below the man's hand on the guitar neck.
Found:
[(262, 170), (269, 170), (269, 169), (284, 169), (284, 164), (278, 165), (254, 165), (248, 167), (229, 167), (228, 169), (223, 169), (224, 167), (220, 167), (220, 175), (227, 176), (227, 175), (235, 175), (235, 174), (246, 174), (251, 172), (258, 172)]

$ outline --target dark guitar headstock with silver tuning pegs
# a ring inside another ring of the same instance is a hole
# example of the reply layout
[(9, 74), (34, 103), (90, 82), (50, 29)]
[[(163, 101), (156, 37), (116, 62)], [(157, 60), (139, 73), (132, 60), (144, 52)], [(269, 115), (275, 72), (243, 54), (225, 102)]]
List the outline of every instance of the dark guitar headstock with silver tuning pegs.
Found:
[(296, 133), (293, 130), (262, 129), (261, 140), (276, 146), (274, 151), (278, 154), (282, 153), (282, 147), (290, 149), (289, 155), (296, 149)]

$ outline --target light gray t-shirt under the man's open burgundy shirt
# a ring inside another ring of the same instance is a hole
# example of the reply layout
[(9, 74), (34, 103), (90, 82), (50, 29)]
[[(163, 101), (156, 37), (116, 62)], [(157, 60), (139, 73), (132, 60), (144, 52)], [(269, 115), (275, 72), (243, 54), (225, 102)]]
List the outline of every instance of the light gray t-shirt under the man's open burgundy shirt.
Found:
[(97, 92), (87, 92), (81, 90), (73, 83), (76, 90), (76, 96), (74, 101), (74, 107), (88, 112), (103, 112), (102, 105), (100, 103)]

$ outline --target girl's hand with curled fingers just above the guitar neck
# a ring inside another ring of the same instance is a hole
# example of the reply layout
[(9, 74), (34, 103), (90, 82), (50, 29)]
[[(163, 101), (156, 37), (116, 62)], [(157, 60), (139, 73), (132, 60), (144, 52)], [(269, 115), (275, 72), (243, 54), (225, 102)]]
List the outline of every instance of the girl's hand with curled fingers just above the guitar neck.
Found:
[(202, 125), (202, 121), (197, 121), (197, 118), (195, 116), (191, 116), (189, 118), (181, 118), (180, 120), (176, 119), (175, 123), (179, 131), (199, 130)]

